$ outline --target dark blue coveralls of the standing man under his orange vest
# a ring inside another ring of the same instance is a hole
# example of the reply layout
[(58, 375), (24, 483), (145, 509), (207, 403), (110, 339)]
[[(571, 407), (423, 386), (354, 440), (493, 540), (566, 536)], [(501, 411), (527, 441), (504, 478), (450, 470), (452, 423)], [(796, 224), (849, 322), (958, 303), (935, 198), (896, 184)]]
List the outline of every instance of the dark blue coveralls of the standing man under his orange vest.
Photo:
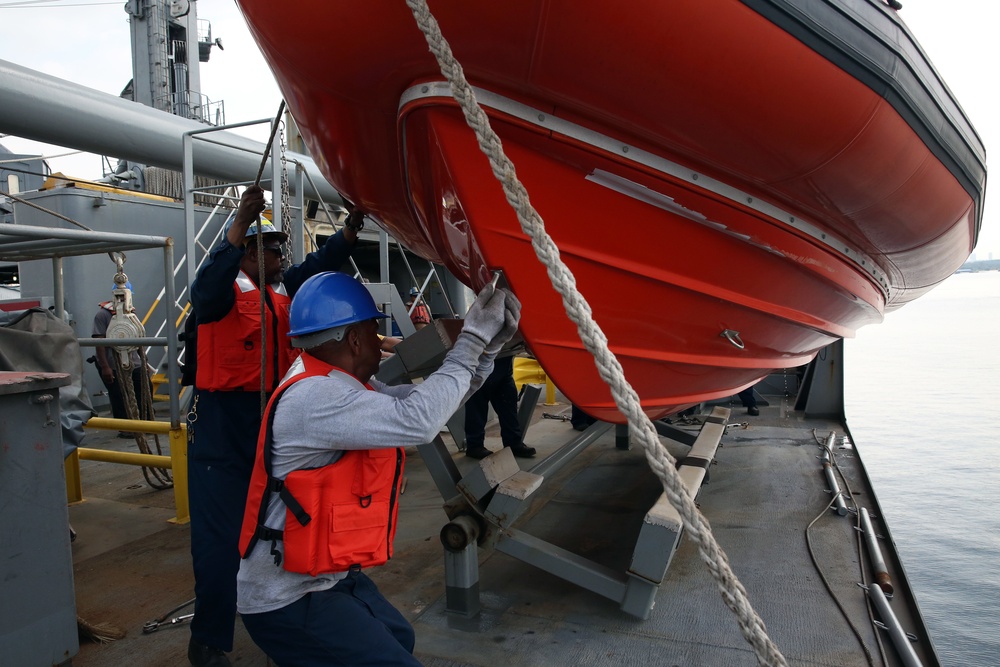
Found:
[[(293, 296), (307, 278), (338, 270), (353, 249), (342, 231), (328, 238), (301, 264), (285, 270), (288, 295)], [(221, 320), (235, 305), (233, 282), (243, 255), (243, 248), (223, 236), (199, 269), (191, 285), (191, 304), (199, 325)], [(276, 349), (271, 341), (267, 345)], [(259, 363), (259, 350), (248, 354)], [(188, 497), (196, 598), (191, 637), (203, 646), (232, 651), (240, 529), (257, 450), (260, 393), (195, 388), (194, 400), (197, 417), (188, 424), (193, 435), (188, 449)]]

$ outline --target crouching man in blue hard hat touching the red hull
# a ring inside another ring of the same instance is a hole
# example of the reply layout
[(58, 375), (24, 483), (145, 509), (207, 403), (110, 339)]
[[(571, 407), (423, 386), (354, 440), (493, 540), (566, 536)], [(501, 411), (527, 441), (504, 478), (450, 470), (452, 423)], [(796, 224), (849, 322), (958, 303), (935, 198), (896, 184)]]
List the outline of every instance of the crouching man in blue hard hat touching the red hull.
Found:
[(295, 295), (305, 352), (263, 420), (237, 585), (243, 625), (276, 664), (420, 664), (413, 627), (362, 569), (392, 555), (403, 448), (433, 440), (489, 375), (520, 307), (487, 285), (441, 367), (388, 386), (372, 378), (385, 316), (363, 285), (323, 273)]

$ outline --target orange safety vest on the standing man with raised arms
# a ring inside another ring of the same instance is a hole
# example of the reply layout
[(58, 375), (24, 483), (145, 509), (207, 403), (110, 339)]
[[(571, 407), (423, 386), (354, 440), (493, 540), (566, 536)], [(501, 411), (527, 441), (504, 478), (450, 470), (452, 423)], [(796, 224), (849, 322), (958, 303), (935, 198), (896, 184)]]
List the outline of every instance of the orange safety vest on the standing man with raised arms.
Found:
[[(260, 390), (260, 292), (240, 271), (233, 283), (236, 303), (217, 322), (198, 324), (198, 371), (195, 386), (211, 391)], [(267, 388), (273, 390), (288, 372), (299, 350), (292, 347), (285, 286), (265, 290), (267, 320)]]

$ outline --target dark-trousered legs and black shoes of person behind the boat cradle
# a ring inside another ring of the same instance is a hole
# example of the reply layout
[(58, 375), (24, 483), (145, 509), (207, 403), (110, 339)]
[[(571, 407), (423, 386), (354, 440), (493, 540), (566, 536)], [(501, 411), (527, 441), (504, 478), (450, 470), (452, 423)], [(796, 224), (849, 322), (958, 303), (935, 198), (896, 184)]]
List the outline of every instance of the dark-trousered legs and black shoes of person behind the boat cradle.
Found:
[(514, 456), (531, 458), (535, 448), (522, 442), (517, 419), (517, 385), (514, 383), (514, 357), (497, 359), (493, 372), (465, 404), (465, 455), (484, 459), (493, 452), (486, 448), (486, 420), (490, 405), (500, 422), (500, 439)]

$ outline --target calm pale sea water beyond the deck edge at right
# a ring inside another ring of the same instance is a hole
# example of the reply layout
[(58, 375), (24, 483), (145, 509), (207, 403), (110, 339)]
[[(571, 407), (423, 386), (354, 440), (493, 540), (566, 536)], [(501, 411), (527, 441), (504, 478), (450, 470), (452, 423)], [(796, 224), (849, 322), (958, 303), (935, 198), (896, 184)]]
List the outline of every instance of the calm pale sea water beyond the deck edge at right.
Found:
[(1000, 272), (846, 342), (847, 418), (944, 665), (1000, 665)]

